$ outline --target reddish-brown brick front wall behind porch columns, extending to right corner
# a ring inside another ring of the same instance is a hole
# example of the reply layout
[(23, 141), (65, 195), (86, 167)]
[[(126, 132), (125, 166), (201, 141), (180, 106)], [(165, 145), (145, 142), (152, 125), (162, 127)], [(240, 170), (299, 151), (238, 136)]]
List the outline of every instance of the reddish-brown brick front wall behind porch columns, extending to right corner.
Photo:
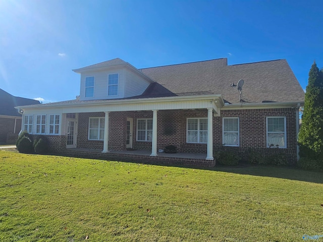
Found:
[[(285, 116), (287, 148), (266, 148), (266, 117)], [(78, 123), (78, 148), (103, 149), (103, 141), (88, 140), (89, 117), (104, 117), (104, 112), (80, 113)], [(127, 117), (133, 118), (133, 148), (151, 149), (151, 142), (137, 141), (137, 119), (152, 118), (152, 111), (110, 112), (109, 150), (126, 150)], [(206, 109), (160, 110), (157, 112), (157, 149), (174, 145), (179, 152), (206, 153), (206, 144), (186, 143), (186, 120), (189, 117), (207, 117)], [(242, 157), (252, 147), (266, 155), (285, 152), (290, 162), (297, 159), (296, 113), (294, 108), (222, 110), (220, 117), (213, 117), (213, 149), (222, 147), (223, 117), (239, 117), (240, 146), (236, 147)]]

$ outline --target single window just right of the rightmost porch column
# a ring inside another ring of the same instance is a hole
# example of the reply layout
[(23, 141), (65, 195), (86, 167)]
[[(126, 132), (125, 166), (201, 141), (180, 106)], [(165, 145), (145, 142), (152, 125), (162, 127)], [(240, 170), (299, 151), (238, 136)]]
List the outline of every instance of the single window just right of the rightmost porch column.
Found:
[(225, 146), (239, 146), (239, 118), (224, 117), (222, 143)]

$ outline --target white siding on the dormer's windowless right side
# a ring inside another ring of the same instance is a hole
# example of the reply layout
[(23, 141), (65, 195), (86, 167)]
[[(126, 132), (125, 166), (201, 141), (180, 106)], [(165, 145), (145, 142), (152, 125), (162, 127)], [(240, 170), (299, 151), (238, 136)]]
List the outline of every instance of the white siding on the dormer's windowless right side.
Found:
[(135, 73), (126, 70), (125, 97), (134, 97), (141, 95), (149, 86), (147, 80), (142, 79)]

